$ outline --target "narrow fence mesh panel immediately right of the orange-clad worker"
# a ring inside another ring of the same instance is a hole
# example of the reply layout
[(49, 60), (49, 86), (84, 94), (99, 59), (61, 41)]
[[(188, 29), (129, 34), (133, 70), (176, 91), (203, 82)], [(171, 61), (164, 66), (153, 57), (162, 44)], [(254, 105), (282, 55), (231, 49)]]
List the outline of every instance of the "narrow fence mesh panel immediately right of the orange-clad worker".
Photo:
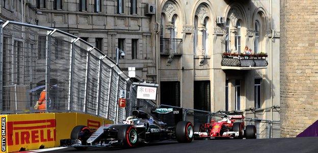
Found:
[(50, 37), (49, 52), (49, 111), (67, 111), (69, 97), (69, 71), (71, 42), (67, 36)]

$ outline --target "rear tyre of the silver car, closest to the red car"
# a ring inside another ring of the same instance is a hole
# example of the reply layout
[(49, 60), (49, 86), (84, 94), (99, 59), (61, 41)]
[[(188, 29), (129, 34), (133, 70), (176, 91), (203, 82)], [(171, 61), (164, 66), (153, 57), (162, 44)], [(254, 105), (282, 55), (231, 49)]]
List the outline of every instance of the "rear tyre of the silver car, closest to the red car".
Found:
[(176, 125), (177, 141), (181, 143), (188, 143), (193, 140), (193, 126), (189, 121), (179, 121)]

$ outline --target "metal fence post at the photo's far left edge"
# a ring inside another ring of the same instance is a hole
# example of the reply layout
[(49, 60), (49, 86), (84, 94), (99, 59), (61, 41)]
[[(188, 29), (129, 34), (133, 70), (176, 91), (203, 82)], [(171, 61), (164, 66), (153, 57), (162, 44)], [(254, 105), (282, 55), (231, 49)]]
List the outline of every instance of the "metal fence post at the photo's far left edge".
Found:
[(3, 21), (0, 20), (0, 113), (3, 111)]

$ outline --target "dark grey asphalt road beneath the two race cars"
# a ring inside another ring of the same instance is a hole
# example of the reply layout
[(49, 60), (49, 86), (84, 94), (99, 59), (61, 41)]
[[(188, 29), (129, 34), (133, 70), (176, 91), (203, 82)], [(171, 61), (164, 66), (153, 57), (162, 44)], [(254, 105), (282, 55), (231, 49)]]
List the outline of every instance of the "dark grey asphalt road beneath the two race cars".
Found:
[[(50, 152), (84, 152), (64, 148)], [(164, 141), (135, 148), (89, 148), (85, 152), (318, 152), (318, 137), (244, 139), (244, 140), (196, 140), (192, 143)]]

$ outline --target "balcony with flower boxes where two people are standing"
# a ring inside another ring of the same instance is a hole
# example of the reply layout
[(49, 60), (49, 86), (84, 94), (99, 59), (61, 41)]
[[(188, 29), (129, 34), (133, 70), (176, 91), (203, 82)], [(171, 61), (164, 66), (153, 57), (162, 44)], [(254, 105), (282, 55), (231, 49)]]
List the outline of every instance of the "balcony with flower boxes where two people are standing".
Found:
[(267, 54), (263, 53), (257, 55), (231, 55), (224, 53), (221, 61), (221, 69), (265, 69), (268, 65), (266, 58)]

